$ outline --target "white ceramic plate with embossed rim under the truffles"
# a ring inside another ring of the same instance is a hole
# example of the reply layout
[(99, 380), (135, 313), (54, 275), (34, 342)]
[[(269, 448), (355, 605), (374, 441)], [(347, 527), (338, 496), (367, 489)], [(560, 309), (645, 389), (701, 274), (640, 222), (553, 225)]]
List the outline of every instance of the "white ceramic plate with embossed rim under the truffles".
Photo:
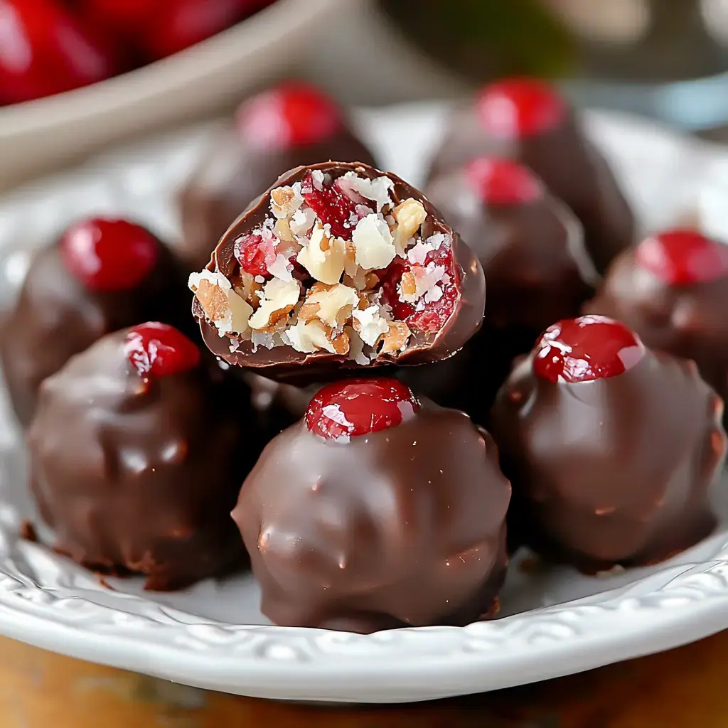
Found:
[[(384, 166), (413, 182), (443, 109), (362, 112)], [(692, 207), (713, 151), (645, 122), (593, 115), (590, 131), (627, 178), (645, 227)], [(208, 130), (189, 130), (98, 159), (0, 201), (4, 304), (41, 240), (77, 215), (129, 213), (175, 234), (175, 183)], [(0, 395), (3, 395), (0, 391)], [(595, 668), (728, 628), (728, 497), (719, 531), (678, 558), (608, 578), (571, 569), (526, 569), (515, 559), (498, 620), (466, 628), (392, 630), (371, 636), (274, 627), (243, 575), (183, 593), (115, 590), (46, 548), (23, 542), (20, 439), (0, 402), (0, 633), (86, 660), (174, 681), (290, 700), (396, 703), (480, 692)], [(722, 484), (728, 491), (728, 483)]]

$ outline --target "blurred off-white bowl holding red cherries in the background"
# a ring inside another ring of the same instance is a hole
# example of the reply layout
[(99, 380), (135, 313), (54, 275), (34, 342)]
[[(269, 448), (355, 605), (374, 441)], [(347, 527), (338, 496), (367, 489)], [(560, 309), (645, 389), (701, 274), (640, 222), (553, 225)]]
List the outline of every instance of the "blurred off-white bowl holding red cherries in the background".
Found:
[(358, 0), (278, 0), (228, 31), (123, 76), (0, 108), (0, 189), (110, 141), (209, 116), (286, 66)]

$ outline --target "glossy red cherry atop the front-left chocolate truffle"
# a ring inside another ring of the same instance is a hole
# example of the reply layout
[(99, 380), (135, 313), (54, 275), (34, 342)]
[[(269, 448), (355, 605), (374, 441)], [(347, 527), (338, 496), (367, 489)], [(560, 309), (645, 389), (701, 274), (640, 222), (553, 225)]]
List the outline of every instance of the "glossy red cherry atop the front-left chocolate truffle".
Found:
[(150, 321), (127, 333), (124, 353), (139, 376), (180, 374), (199, 364), (199, 349), (181, 331)]

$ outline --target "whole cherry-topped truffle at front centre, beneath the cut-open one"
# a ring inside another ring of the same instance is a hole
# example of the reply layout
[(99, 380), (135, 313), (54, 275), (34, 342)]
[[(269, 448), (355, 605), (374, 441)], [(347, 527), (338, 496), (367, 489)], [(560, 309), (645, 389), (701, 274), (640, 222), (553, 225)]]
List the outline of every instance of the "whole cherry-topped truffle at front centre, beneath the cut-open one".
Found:
[(395, 379), (313, 398), (233, 518), (278, 625), (370, 633), (496, 612), (510, 485), (491, 436)]

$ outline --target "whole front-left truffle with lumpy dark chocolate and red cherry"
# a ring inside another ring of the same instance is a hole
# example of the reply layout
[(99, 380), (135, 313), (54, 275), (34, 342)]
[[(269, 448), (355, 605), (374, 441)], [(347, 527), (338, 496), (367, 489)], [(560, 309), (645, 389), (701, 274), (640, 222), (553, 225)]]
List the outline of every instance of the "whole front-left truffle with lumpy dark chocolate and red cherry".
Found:
[[(210, 357), (211, 358), (211, 357)], [(56, 550), (181, 588), (245, 559), (230, 518), (259, 449), (250, 401), (177, 329), (104, 336), (41, 385), (31, 488)]]

